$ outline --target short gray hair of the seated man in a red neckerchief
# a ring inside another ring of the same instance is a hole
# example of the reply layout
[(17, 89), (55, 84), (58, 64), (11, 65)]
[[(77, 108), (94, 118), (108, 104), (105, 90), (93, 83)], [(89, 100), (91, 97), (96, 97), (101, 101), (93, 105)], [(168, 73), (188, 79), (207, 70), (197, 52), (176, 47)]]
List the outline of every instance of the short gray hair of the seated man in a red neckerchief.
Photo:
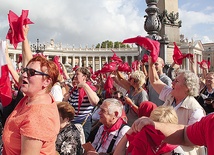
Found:
[(103, 101), (109, 103), (108, 106), (108, 113), (113, 114), (114, 112), (118, 112), (118, 118), (122, 116), (122, 110), (123, 110), (123, 105), (121, 101), (115, 99), (115, 98), (107, 98)]

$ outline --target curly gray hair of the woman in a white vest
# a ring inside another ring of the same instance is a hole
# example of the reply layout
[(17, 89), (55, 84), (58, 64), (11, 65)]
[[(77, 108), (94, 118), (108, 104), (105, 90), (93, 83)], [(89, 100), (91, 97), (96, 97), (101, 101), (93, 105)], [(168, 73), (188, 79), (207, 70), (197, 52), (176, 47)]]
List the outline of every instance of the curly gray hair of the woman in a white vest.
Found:
[(199, 95), (199, 88), (200, 88), (200, 82), (199, 77), (189, 71), (189, 70), (179, 70), (178, 74), (183, 74), (185, 85), (189, 89), (189, 96), (198, 96)]

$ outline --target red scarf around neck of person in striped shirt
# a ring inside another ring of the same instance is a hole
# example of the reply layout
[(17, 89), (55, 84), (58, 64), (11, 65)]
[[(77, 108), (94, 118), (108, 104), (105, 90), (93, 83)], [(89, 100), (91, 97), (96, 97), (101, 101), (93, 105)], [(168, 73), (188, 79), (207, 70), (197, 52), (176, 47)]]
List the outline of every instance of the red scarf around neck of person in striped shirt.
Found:
[[(86, 83), (89, 85), (89, 87), (90, 87), (93, 91), (96, 91), (96, 87), (93, 86), (93, 85), (91, 84), (91, 82), (88, 81), (88, 82), (86, 82)], [(74, 90), (76, 90), (76, 89), (78, 89), (78, 88), (77, 88), (77, 87), (74, 87), (74, 88), (71, 90), (70, 94), (72, 94), (72, 92), (73, 92)], [(85, 92), (84, 88), (79, 88), (78, 91), (79, 91), (79, 97), (78, 97), (78, 112), (76, 113), (77, 115), (79, 114), (80, 107), (81, 107), (81, 105), (82, 105), (82, 101), (83, 101), (83, 99), (84, 99), (84, 96), (86, 95), (86, 92)]]

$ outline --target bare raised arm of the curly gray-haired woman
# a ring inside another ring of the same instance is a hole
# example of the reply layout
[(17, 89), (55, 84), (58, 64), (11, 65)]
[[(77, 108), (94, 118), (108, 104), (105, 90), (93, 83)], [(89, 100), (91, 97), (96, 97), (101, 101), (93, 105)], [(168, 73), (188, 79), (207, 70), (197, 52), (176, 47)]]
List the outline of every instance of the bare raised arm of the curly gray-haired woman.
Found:
[(152, 62), (151, 56), (149, 56), (148, 64), (149, 64), (149, 82), (155, 89), (155, 91), (158, 94), (160, 94), (161, 90), (163, 89), (164, 86), (166, 86), (166, 84), (159, 79), (154, 63)]

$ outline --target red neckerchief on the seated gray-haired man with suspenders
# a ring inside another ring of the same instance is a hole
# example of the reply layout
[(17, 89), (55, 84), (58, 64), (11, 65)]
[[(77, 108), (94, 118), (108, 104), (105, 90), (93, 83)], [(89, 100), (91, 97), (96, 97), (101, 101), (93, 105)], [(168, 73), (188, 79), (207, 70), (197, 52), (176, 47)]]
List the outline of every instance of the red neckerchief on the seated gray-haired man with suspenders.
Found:
[(116, 123), (114, 123), (114, 125), (112, 125), (112, 127), (110, 128), (107, 128), (105, 125), (104, 125), (104, 129), (103, 129), (103, 133), (102, 133), (102, 136), (101, 136), (101, 140), (102, 140), (102, 145), (106, 142), (106, 140), (108, 139), (108, 135), (109, 133), (113, 132), (113, 131), (116, 131), (118, 129), (120, 129), (121, 125), (124, 123), (123, 119), (122, 118), (119, 118), (117, 120)]

